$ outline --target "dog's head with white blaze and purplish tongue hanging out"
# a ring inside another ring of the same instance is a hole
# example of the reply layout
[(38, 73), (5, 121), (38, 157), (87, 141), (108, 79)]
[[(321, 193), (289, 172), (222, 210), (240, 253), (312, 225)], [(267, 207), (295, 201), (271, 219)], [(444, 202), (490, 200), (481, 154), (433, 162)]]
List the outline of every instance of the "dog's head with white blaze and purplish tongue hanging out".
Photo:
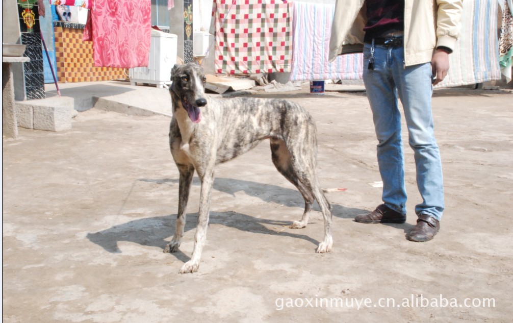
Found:
[(189, 118), (194, 123), (201, 121), (200, 108), (207, 105), (206, 80), (203, 68), (196, 63), (174, 65), (171, 70), (171, 96), (173, 100), (182, 103), (182, 107), (187, 110)]

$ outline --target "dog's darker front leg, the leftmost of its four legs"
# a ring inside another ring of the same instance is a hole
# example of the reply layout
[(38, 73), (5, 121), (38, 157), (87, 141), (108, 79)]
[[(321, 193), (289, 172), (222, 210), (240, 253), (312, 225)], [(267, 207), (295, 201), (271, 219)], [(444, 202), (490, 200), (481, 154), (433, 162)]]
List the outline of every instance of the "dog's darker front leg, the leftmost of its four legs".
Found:
[(178, 215), (176, 216), (176, 227), (171, 242), (166, 245), (164, 252), (176, 252), (184, 236), (185, 220), (187, 216), (187, 202), (189, 201), (189, 192), (194, 176), (194, 166), (177, 164), (180, 172), (180, 182), (178, 189)]

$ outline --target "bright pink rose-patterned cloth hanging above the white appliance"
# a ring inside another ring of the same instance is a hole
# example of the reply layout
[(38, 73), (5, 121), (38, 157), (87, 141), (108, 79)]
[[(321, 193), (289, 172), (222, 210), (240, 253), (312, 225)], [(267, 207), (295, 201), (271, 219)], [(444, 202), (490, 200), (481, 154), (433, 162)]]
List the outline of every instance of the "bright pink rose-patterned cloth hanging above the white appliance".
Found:
[(151, 0), (94, 0), (83, 40), (91, 35), (94, 66), (148, 66)]

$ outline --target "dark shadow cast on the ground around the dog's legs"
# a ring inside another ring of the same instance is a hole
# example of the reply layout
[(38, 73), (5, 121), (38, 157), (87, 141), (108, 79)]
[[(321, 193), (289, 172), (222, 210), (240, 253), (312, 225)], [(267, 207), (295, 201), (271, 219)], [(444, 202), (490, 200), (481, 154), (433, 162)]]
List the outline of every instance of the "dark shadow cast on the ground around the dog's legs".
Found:
[[(174, 184), (178, 183), (178, 180), (174, 179), (141, 179), (140, 181), (152, 182), (157, 184), (168, 184), (177, 186)], [(197, 178), (194, 178), (193, 185), (200, 185)], [(228, 178), (216, 178), (214, 180), (213, 189), (225, 192), (227, 194), (235, 196), (237, 192), (245, 192), (248, 195), (256, 196), (261, 198), (265, 202), (281, 203), (286, 206), (303, 206), (303, 197), (298, 191), (294, 189), (285, 188), (278, 185), (263, 184), (244, 180), (235, 180)], [(261, 194), (256, 194), (261, 192)], [(278, 196), (275, 195), (279, 194)], [(255, 195), (256, 194), (256, 195)], [(282, 202), (285, 200), (285, 202)], [(177, 202), (177, 201), (176, 201)], [(299, 204), (298, 204), (299, 202)], [(211, 207), (215, 205), (211, 204)], [(353, 218), (354, 215), (362, 212), (357, 208), (347, 208), (342, 205), (332, 204), (333, 216), (339, 218)], [(176, 206), (177, 207), (177, 206)], [(314, 210), (319, 209), (317, 203), (315, 203)], [(298, 220), (301, 218), (302, 211), (298, 214)], [(129, 221), (127, 223), (118, 224), (110, 227), (109, 229), (102, 230), (95, 233), (89, 233), (87, 238), (100, 245), (103, 249), (110, 253), (121, 253), (118, 243), (120, 241), (133, 242), (141, 245), (152, 246), (155, 248), (163, 249), (169, 242), (169, 238), (174, 234), (174, 226), (176, 222), (176, 214), (166, 215), (159, 217), (151, 217), (144, 219), (137, 219)], [(187, 214), (187, 221), (185, 225), (185, 231), (194, 230), (196, 223), (198, 222), (198, 213)], [(210, 211), (210, 224), (221, 224), (241, 231), (249, 231), (259, 234), (275, 235), (277, 231), (269, 229), (269, 227), (277, 228), (288, 226), (292, 224), (291, 221), (285, 221), (280, 219), (262, 219), (255, 218), (246, 214), (236, 212), (213, 212)], [(312, 223), (312, 221), (310, 221)], [(298, 232), (298, 233), (295, 233)], [(295, 239), (304, 239), (311, 242), (315, 247), (319, 244), (319, 241), (301, 234), (300, 231), (282, 231), (279, 234), (282, 236), (288, 236)], [(322, 233), (319, 233), (322, 236)], [(185, 255), (181, 251), (173, 254), (177, 259), (181, 261), (189, 260), (189, 256)]]

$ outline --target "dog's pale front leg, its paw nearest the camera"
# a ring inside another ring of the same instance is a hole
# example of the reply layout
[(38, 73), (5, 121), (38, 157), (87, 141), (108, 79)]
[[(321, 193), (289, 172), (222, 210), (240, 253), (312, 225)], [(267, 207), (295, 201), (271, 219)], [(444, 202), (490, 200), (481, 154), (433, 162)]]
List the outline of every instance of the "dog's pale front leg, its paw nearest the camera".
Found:
[(207, 238), (210, 195), (213, 181), (213, 170), (201, 177), (200, 213), (198, 215), (198, 227), (196, 227), (196, 234), (194, 236), (194, 250), (192, 251), (191, 260), (187, 261), (180, 270), (181, 274), (197, 272), (200, 267), (200, 258)]

